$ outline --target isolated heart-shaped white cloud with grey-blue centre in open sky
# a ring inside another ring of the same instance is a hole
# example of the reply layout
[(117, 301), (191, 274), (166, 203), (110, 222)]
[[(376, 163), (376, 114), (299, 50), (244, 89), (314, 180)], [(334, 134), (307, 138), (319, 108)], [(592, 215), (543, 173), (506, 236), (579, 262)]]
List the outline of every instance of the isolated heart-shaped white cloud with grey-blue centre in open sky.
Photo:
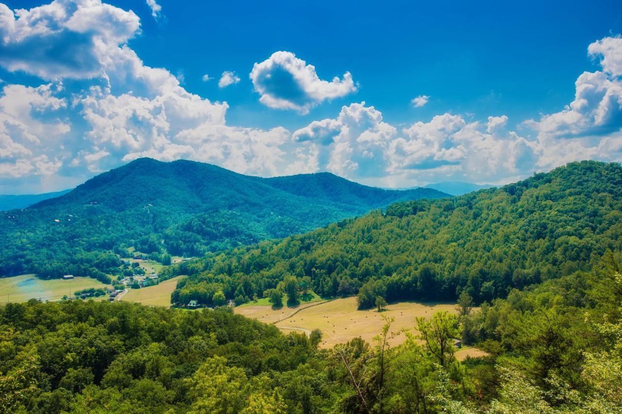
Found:
[(255, 63), (250, 77), (262, 104), (300, 113), (308, 113), (326, 99), (356, 91), (350, 72), (344, 73), (343, 79), (335, 76), (330, 82), (321, 80), (313, 65), (307, 65), (291, 52), (274, 52), (263, 62)]

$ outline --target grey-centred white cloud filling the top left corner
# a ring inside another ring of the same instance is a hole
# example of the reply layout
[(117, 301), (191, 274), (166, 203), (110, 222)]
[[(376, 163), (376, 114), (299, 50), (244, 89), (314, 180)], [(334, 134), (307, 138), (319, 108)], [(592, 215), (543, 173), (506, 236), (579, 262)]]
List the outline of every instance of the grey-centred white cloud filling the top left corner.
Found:
[(139, 31), (132, 11), (97, 0), (57, 0), (30, 10), (0, 4), (0, 65), (45, 80), (103, 74), (103, 55)]

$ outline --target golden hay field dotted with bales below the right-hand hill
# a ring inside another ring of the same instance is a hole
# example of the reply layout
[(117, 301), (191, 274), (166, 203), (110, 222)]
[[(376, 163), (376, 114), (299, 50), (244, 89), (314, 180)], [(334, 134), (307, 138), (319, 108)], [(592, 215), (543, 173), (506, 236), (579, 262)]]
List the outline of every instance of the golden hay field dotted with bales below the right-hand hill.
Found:
[[(357, 310), (356, 298), (340, 298), (325, 302), (300, 305), (299, 308), (281, 308), (272, 310), (270, 306), (244, 306), (235, 308), (236, 313), (255, 318), (265, 323), (274, 323), (285, 333), (299, 331), (310, 334), (313, 329), (322, 331), (320, 347), (330, 348), (338, 343), (345, 343), (360, 336), (371, 342), (382, 330), (383, 316), (395, 319), (391, 331), (406, 329), (416, 333), (415, 317), (431, 317), (437, 311), (457, 313), (452, 303), (416, 303), (399, 302), (387, 306), (387, 310), (378, 313), (373, 310)], [(399, 334), (391, 341), (392, 346), (404, 342), (406, 335)], [(466, 348), (457, 352), (457, 357), (475, 356), (482, 352), (475, 348)]]

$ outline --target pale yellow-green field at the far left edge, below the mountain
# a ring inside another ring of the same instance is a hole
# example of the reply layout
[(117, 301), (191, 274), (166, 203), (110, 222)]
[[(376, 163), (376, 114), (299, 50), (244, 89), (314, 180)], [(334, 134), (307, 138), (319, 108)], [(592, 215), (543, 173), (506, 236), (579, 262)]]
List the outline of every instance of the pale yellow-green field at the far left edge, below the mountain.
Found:
[(76, 290), (106, 287), (99, 280), (90, 277), (76, 277), (69, 280), (44, 280), (35, 275), (20, 275), (0, 278), (0, 303), (24, 302), (31, 298), (43, 301), (60, 300), (63, 295), (68, 297)]

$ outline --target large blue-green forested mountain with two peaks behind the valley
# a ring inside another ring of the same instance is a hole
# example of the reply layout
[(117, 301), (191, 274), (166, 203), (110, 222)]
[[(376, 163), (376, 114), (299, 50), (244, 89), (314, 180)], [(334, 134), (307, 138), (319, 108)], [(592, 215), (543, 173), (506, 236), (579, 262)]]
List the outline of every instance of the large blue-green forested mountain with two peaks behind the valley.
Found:
[(202, 255), (309, 231), (396, 200), (443, 196), (381, 190), (328, 173), (260, 178), (206, 163), (139, 159), (26, 211), (2, 214), (0, 275), (103, 277), (128, 247)]

